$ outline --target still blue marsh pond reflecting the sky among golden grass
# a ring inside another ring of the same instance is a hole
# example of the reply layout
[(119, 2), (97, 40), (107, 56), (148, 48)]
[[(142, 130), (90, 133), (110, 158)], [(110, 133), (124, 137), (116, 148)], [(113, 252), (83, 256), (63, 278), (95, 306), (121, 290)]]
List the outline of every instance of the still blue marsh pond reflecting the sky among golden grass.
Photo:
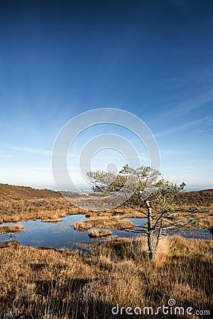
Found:
[[(146, 218), (125, 218), (130, 220), (135, 225), (145, 225)], [(23, 230), (16, 233), (5, 233), (0, 235), (0, 242), (9, 240), (16, 240), (21, 245), (28, 245), (33, 247), (53, 247), (53, 248), (68, 248), (73, 249), (78, 244), (88, 244), (106, 240), (104, 238), (90, 238), (89, 231), (75, 230), (73, 225), (78, 222), (88, 220), (85, 215), (67, 215), (61, 218), (58, 223), (43, 223), (41, 220), (28, 220), (18, 223), (3, 223), (2, 226), (7, 225), (21, 225)], [(175, 232), (174, 232), (175, 233)], [(174, 234), (173, 233), (173, 234)], [(140, 234), (125, 230), (111, 229), (111, 237), (138, 237)], [(183, 237), (194, 239), (212, 239), (212, 233), (207, 229), (189, 230), (181, 233)]]

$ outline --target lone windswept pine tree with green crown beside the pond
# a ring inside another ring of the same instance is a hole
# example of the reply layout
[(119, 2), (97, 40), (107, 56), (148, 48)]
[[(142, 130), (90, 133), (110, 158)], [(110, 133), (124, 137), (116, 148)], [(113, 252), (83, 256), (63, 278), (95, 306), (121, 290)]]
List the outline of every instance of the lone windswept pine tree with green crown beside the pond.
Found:
[[(92, 181), (93, 191), (102, 194), (126, 196), (126, 205), (136, 211), (143, 210), (147, 223), (136, 226), (134, 232), (145, 233), (148, 242), (148, 256), (150, 262), (155, 261), (155, 253), (163, 230), (178, 228), (180, 223), (173, 223), (166, 216), (173, 211), (174, 196), (185, 188), (185, 183), (178, 186), (161, 177), (160, 172), (152, 167), (141, 166), (136, 169), (128, 164), (124, 165), (119, 174), (111, 172), (87, 172), (87, 177)], [(131, 194), (131, 196), (129, 196)], [(155, 237), (155, 240), (154, 240)]]

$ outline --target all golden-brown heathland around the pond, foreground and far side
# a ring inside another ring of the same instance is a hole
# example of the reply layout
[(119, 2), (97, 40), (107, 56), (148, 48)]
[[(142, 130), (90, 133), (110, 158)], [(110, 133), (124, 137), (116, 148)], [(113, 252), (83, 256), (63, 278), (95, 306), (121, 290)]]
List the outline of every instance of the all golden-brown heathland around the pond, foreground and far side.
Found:
[[(143, 208), (136, 212), (124, 206), (93, 213), (76, 208), (59, 192), (5, 184), (0, 184), (0, 205), (1, 223), (37, 218), (55, 221), (67, 214), (86, 213), (88, 219), (76, 228), (90, 232), (96, 227), (103, 231), (102, 225), (116, 227), (124, 217), (143, 217)], [(187, 220), (188, 228), (212, 229), (212, 206), (213, 190), (184, 192), (175, 198), (170, 218)], [(168, 306), (169, 299), (184, 309), (211, 311), (212, 248), (212, 240), (165, 237), (151, 264), (146, 237), (107, 239), (78, 251), (1, 242), (0, 318), (151, 318), (147, 309), (146, 315), (127, 315), (125, 309), (139, 307), (143, 313), (143, 307), (152, 307), (156, 311)], [(111, 313), (116, 305), (124, 307), (123, 315)], [(163, 315), (159, 310), (152, 317), (192, 315)], [(202, 318), (202, 312), (197, 318)]]

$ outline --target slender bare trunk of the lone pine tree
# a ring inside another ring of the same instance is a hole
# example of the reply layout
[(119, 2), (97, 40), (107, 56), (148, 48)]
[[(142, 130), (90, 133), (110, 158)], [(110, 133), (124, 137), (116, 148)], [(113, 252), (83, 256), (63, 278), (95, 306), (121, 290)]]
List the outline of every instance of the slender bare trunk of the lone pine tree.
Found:
[(152, 208), (150, 206), (149, 201), (146, 201), (146, 208), (148, 213), (148, 221), (147, 221), (148, 257), (150, 262), (154, 262), (155, 261), (155, 245), (153, 242), (153, 216), (152, 216)]

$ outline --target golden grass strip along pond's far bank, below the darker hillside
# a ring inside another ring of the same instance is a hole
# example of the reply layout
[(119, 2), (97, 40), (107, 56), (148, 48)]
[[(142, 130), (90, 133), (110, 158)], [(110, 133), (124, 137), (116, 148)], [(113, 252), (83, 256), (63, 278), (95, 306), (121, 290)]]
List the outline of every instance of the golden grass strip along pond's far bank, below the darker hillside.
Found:
[[(89, 229), (92, 227), (100, 227), (99, 225), (89, 225), (90, 219), (109, 218), (117, 220), (121, 218), (143, 218), (144, 208), (139, 211), (133, 211), (129, 207), (119, 207), (111, 211), (100, 211), (98, 213), (84, 211), (80, 208), (76, 208), (71, 203), (65, 200), (65, 198), (33, 198), (33, 199), (22, 199), (20, 201), (9, 199), (8, 201), (1, 202), (1, 213), (0, 213), (0, 223), (4, 222), (18, 222), (21, 220), (31, 220), (31, 219), (41, 219), (46, 222), (56, 223), (60, 218), (68, 214), (87, 214), (89, 217), (88, 225), (84, 228), (84, 224), (81, 225), (82, 230)], [(176, 206), (173, 213), (170, 213), (168, 219), (172, 221), (182, 220), (182, 224), (186, 225), (185, 229), (188, 228), (213, 228), (213, 208), (212, 206)], [(118, 229), (124, 229), (122, 224), (119, 223)], [(130, 225), (126, 225), (127, 228)], [(77, 227), (80, 227), (77, 226)], [(103, 225), (102, 227), (109, 228)], [(114, 226), (112, 226), (114, 228)]]

